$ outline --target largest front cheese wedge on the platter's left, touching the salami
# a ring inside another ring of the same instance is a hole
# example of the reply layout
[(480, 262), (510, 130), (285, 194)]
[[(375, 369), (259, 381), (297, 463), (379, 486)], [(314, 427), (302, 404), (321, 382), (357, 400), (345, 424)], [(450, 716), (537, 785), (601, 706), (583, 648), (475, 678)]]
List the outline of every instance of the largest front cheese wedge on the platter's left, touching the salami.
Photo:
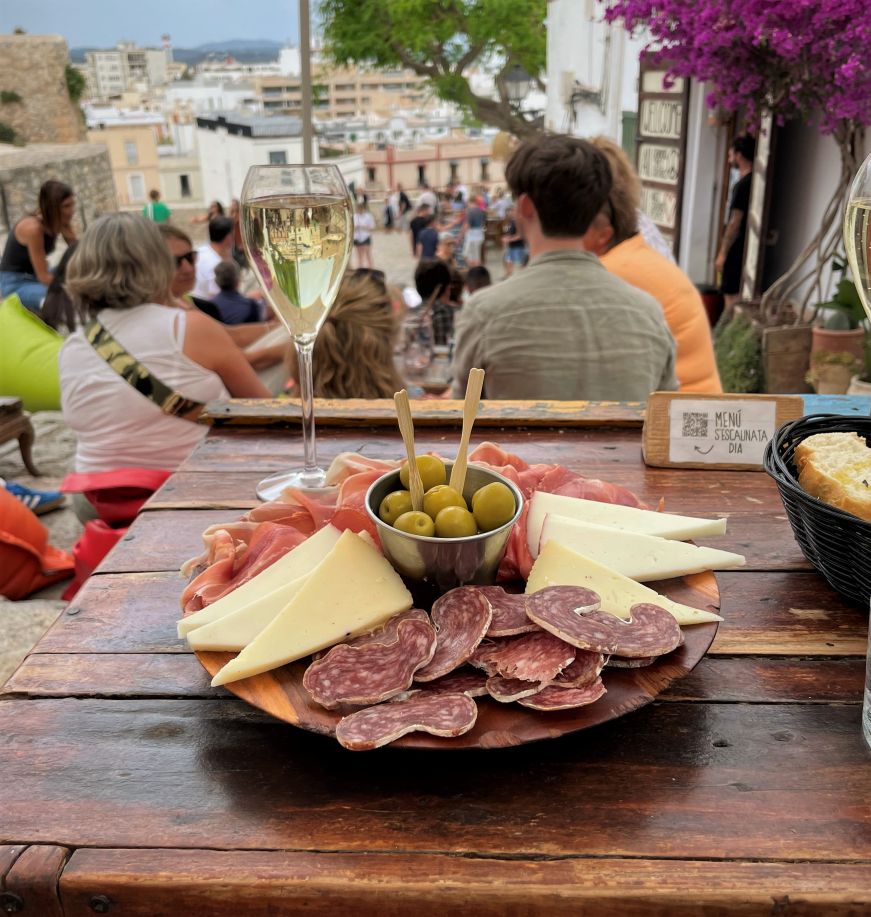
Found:
[(411, 605), (411, 593), (384, 555), (353, 532), (343, 532), (296, 596), (212, 684), (301, 659), (365, 633)]

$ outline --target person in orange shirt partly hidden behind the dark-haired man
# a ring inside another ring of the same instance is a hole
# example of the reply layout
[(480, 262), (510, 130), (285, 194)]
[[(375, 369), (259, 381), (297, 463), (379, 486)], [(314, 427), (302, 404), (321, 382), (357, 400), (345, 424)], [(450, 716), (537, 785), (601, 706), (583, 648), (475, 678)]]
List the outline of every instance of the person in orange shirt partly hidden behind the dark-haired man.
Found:
[(677, 344), (675, 369), (680, 391), (722, 392), (711, 326), (699, 291), (639, 232), (641, 182), (629, 158), (605, 137), (596, 137), (592, 142), (608, 158), (613, 185), (608, 202), (584, 236), (587, 250), (598, 255), (612, 274), (649, 293), (662, 306)]

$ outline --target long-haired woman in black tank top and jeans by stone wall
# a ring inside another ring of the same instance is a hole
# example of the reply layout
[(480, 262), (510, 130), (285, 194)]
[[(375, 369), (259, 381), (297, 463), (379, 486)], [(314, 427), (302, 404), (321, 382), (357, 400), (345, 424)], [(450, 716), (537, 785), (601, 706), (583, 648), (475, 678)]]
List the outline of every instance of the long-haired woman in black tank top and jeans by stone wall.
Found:
[(25, 308), (39, 312), (52, 279), (46, 258), (59, 235), (68, 245), (76, 241), (75, 212), (76, 196), (69, 185), (59, 181), (43, 184), (36, 210), (22, 217), (6, 240), (0, 260), (0, 298), (16, 293)]

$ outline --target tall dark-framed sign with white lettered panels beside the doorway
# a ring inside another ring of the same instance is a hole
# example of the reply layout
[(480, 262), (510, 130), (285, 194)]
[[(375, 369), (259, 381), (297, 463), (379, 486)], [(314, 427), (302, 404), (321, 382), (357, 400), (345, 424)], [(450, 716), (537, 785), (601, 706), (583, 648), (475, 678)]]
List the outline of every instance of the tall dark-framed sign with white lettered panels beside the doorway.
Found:
[(677, 254), (689, 83), (679, 78), (666, 85), (666, 71), (661, 63), (641, 59), (636, 168), (641, 209)]

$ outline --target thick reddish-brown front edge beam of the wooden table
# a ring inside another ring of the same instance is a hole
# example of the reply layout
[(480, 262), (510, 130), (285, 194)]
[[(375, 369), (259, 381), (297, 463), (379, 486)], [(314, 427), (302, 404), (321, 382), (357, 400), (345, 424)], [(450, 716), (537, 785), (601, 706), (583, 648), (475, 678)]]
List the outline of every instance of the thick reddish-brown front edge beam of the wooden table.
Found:
[[(397, 881), (397, 876), (403, 876)], [(515, 860), (440, 854), (78, 850), (64, 872), (67, 917), (95, 890), (125, 917), (285, 914), (547, 914), (690, 917), (866, 913), (871, 865), (675, 860)], [(530, 901), (536, 905), (530, 906)]]

